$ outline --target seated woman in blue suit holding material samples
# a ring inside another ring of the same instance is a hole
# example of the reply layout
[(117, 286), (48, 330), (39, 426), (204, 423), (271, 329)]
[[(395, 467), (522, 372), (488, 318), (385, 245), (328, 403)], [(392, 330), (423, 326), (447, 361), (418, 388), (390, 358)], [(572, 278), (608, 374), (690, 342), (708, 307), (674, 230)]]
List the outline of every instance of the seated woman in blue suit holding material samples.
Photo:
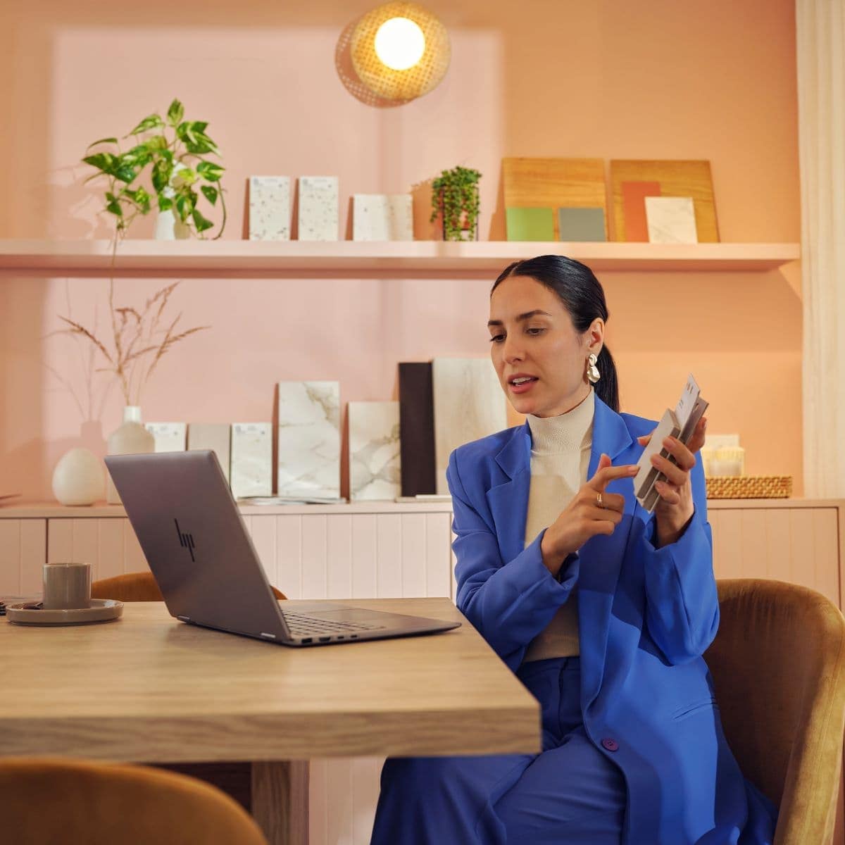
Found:
[[(373, 845), (764, 845), (701, 657), (719, 619), (701, 420), (653, 515), (635, 463), (654, 423), (619, 414), (608, 309), (583, 264), (511, 264), (492, 357), (525, 426), (450, 456), (457, 604), (537, 697), (542, 753), (388, 760)], [(484, 726), (479, 725), (479, 730)]]

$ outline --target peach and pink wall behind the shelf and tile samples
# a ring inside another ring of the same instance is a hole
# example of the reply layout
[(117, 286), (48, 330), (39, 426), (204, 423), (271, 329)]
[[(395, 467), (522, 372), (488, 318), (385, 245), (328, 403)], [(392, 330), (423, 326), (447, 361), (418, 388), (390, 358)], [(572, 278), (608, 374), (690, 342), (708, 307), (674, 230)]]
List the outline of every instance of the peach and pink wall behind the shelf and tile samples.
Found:
[[(799, 239), (792, 0), (429, 3), (450, 30), (450, 72), (392, 109), (335, 73), (341, 30), (370, 5), (6, 0), (0, 237), (106, 237), (79, 157), (178, 96), (223, 150), (224, 237), (243, 237), (251, 173), (338, 174), (346, 231), (350, 194), (411, 190), (460, 163), (484, 174), (482, 237), (497, 239), (503, 155), (596, 155), (709, 159), (722, 240)], [(421, 204), (430, 237), (424, 218)], [(144, 416), (269, 420), (279, 379), (339, 379), (343, 402), (395, 398), (397, 361), (487, 354), (490, 281), (184, 281), (174, 308), (213, 328), (162, 362)], [(659, 416), (691, 370), (710, 430), (739, 431), (749, 472), (792, 474), (800, 490), (797, 269), (602, 281), (624, 409)], [(118, 297), (161, 283), (118, 281)], [(85, 348), (47, 336), (57, 313), (103, 324), (105, 307), (103, 280), (0, 281), (0, 493), (50, 498), (58, 456), (80, 439), (102, 451), (119, 422)]]

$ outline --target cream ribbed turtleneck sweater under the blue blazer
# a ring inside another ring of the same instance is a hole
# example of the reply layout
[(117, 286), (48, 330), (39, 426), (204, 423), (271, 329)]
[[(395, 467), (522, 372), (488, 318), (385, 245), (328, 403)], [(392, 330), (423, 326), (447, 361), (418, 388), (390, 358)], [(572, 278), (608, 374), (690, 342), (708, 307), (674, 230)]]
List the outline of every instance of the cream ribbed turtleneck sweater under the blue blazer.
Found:
[[(559, 417), (529, 414), (532, 433), (531, 488), (528, 493), (526, 546), (548, 528), (586, 482), (592, 446), (595, 394)], [(548, 627), (529, 643), (525, 661), (572, 657), (578, 645), (578, 604), (575, 593), (554, 614)]]

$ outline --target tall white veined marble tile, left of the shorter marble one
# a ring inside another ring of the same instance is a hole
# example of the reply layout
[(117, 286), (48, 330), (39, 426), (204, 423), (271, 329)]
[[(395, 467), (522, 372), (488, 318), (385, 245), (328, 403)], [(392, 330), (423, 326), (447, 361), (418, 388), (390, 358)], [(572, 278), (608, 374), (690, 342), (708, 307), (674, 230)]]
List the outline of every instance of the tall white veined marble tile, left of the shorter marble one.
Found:
[(277, 405), (280, 496), (341, 495), (341, 385), (281, 381)]

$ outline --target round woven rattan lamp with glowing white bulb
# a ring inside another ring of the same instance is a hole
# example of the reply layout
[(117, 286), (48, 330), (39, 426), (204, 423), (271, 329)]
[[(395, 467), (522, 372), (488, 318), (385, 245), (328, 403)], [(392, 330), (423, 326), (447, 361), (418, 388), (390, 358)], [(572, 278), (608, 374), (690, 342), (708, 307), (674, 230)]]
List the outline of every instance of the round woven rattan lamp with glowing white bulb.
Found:
[(444, 25), (418, 3), (401, 0), (373, 8), (358, 20), (349, 46), (361, 83), (397, 105), (439, 85), (451, 56)]

